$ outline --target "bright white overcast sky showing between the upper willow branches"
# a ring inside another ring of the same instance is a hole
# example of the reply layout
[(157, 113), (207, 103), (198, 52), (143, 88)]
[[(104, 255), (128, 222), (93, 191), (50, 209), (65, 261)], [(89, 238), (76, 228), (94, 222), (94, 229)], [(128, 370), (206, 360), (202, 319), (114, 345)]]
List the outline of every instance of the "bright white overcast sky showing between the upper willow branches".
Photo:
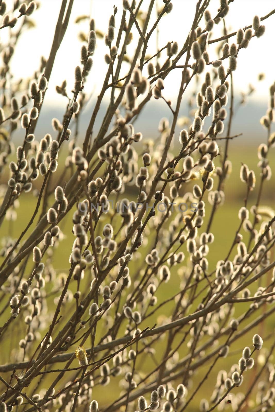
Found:
[[(177, 41), (179, 47), (182, 47), (193, 21), (195, 0), (172, 0), (172, 2), (174, 5), (173, 11), (161, 20), (160, 47), (171, 40)], [(146, 10), (148, 3), (149, 0), (143, 0), (141, 9)], [(8, 0), (7, 4), (11, 5), (11, 1)], [(162, 0), (158, 0), (158, 4), (162, 7)], [(31, 16), (36, 22), (36, 27), (26, 31), (21, 36), (12, 59), (11, 66), (15, 78), (30, 76), (30, 73), (33, 73), (39, 67), (40, 56), (44, 55), (46, 58), (49, 56), (60, 5), (61, 0), (40, 0), (40, 8)], [(73, 87), (74, 69), (75, 66), (80, 64), (80, 48), (82, 45), (78, 33), (80, 31), (88, 32), (88, 21), (75, 24), (76, 17), (82, 14), (93, 17), (96, 21), (96, 28), (106, 33), (108, 20), (113, 12), (113, 5), (118, 7), (116, 16), (116, 26), (118, 28), (122, 12), (121, 0), (74, 0), (68, 29), (58, 51), (49, 82), (45, 105), (51, 105), (52, 107), (53, 105), (63, 105), (65, 103), (64, 98), (56, 95), (55, 92), (55, 86), (61, 84), (64, 79), (68, 82), (68, 89)], [(211, 0), (209, 11), (212, 16), (216, 15), (218, 7), (219, 0)], [(249, 25), (255, 14), (262, 17), (274, 8), (275, 0), (235, 0), (230, 4), (230, 12), (226, 16), (228, 31), (236, 31), (240, 27)], [(151, 27), (153, 21), (155, 21), (155, 11), (149, 27)], [(266, 33), (259, 39), (253, 38), (249, 47), (241, 50), (237, 59), (237, 70), (234, 73), (236, 89), (245, 91), (249, 83), (254, 84), (256, 93), (253, 99), (258, 102), (266, 101), (268, 89), (270, 84), (274, 82), (275, 77), (275, 15), (264, 21), (264, 24)], [(204, 26), (203, 20), (201, 25)], [(221, 24), (215, 26), (213, 37), (222, 35), (221, 30)], [(5, 35), (7, 33), (8, 30), (6, 30)], [(135, 27), (133, 27), (133, 33), (134, 36), (137, 35)], [(3, 35), (3, 40), (5, 40), (5, 35)], [(231, 41), (235, 41), (235, 37), (232, 37)], [(133, 42), (133, 46), (134, 44), (136, 42)], [(155, 44), (155, 36), (152, 36), (148, 53), (155, 53)], [(217, 58), (215, 48), (216, 43), (209, 49), (210, 59), (212, 60)], [(93, 58), (94, 65), (89, 74), (88, 82), (85, 84), (85, 91), (94, 91), (95, 94), (99, 91), (99, 86), (102, 84), (103, 76), (105, 76), (107, 70), (107, 66), (103, 61), (104, 54), (107, 52), (108, 49), (104, 44), (104, 40), (99, 40)], [(134, 52), (134, 47), (129, 47), (128, 53), (131, 54), (132, 52)], [(227, 67), (227, 63), (225, 66)], [(128, 66), (125, 63), (125, 70), (127, 68)], [(261, 72), (266, 74), (266, 79), (259, 83), (257, 77)], [(172, 73), (165, 80), (165, 96), (167, 99), (174, 101), (178, 91), (177, 84), (180, 81), (181, 70), (173, 70)]]

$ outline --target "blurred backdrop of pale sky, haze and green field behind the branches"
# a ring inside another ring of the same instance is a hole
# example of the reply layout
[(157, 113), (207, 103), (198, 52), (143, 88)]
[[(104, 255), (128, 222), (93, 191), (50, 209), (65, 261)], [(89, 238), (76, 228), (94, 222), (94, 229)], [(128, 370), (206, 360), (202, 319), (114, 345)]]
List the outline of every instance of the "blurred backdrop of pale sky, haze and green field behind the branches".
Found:
[[(9, 5), (9, 1), (7, 1)], [(11, 2), (10, 2), (11, 4)], [(157, 7), (162, 6), (162, 1), (156, 2)], [(49, 55), (50, 47), (52, 44), (52, 39), (54, 36), (54, 30), (56, 21), (59, 14), (59, 8), (61, 5), (61, 0), (42, 0), (40, 1), (40, 7), (31, 16), (31, 19), (35, 23), (31, 30), (26, 31), (19, 39), (18, 45), (14, 52), (12, 58), (11, 70), (14, 74), (14, 80), (19, 80), (20, 78), (26, 79), (28, 77), (32, 78), (32, 73), (38, 70), (40, 66), (40, 57)], [(61, 44), (61, 47), (57, 53), (56, 61), (54, 64), (54, 69), (49, 81), (48, 90), (45, 96), (45, 101), (42, 106), (42, 112), (39, 117), (37, 129), (35, 136), (40, 140), (45, 133), (51, 133), (52, 131), (51, 120), (53, 117), (58, 118), (60, 121), (63, 118), (64, 111), (66, 109), (67, 100), (60, 94), (56, 93), (56, 85), (61, 85), (62, 81), (66, 79), (68, 90), (73, 88), (74, 84), (74, 70), (75, 66), (80, 64), (80, 48), (84, 42), (81, 41), (81, 33), (87, 36), (89, 31), (89, 19), (94, 18), (96, 24), (96, 30), (103, 35), (105, 35), (108, 29), (108, 21), (110, 15), (113, 12), (113, 6), (118, 7), (118, 13), (116, 15), (116, 21), (119, 23), (120, 16), (122, 13), (122, 2), (118, 0), (75, 0), (73, 4), (73, 9), (71, 13), (71, 19), (66, 31), (65, 37)], [(158, 37), (158, 47), (161, 48), (168, 41), (177, 41), (179, 43), (179, 48), (182, 47), (185, 42), (188, 31), (190, 30), (193, 15), (195, 11), (195, 0), (174, 0), (173, 10), (170, 14), (166, 15), (160, 22), (159, 27), (159, 37)], [(148, 7), (148, 0), (144, 0), (141, 6), (141, 10), (145, 10)], [(211, 0), (209, 11), (212, 16), (216, 15), (216, 11), (219, 7), (219, 0)], [(226, 24), (228, 33), (236, 31), (239, 28), (244, 28), (251, 24), (254, 15), (259, 15), (260, 17), (268, 14), (272, 9), (275, 8), (274, 0), (235, 0), (230, 4), (230, 11), (226, 16)], [(155, 12), (156, 15), (156, 12)], [(83, 16), (83, 19), (79, 23), (75, 21), (79, 16)], [(85, 17), (87, 16), (87, 17)], [(118, 29), (118, 23), (116, 30)], [(204, 23), (202, 22), (202, 25)], [(275, 39), (275, 15), (271, 16), (269, 19), (264, 21), (266, 26), (266, 33), (263, 37), (251, 40), (251, 44), (247, 49), (242, 49), (237, 59), (237, 70), (233, 73), (233, 84), (234, 84), (234, 103), (233, 103), (233, 127), (231, 135), (242, 133), (242, 136), (231, 140), (229, 145), (229, 158), (233, 165), (233, 170), (230, 178), (226, 181), (225, 188), (225, 202), (221, 206), (214, 219), (214, 224), (212, 227), (212, 232), (215, 235), (215, 243), (213, 254), (212, 251), (212, 262), (214, 265), (219, 257), (225, 257), (226, 251), (230, 248), (233, 241), (233, 236), (239, 225), (239, 220), (237, 217), (237, 212), (241, 206), (243, 206), (243, 199), (245, 197), (245, 185), (241, 183), (239, 178), (240, 166), (242, 163), (246, 163), (249, 169), (253, 169), (256, 173), (256, 189), (249, 197), (248, 208), (250, 208), (256, 199), (259, 190), (259, 180), (260, 180), (260, 170), (257, 168), (258, 157), (257, 157), (257, 147), (260, 143), (266, 143), (267, 141), (267, 131), (263, 128), (260, 123), (260, 119), (266, 114), (268, 108), (268, 97), (269, 97), (269, 87), (273, 84), (275, 80), (275, 54), (274, 54), (274, 39)], [(135, 27), (133, 28), (134, 39), (136, 38)], [(1, 41), (5, 41), (5, 35), (8, 32), (1, 33)], [(212, 37), (220, 37), (223, 35), (221, 24), (215, 26)], [(156, 47), (156, 37), (152, 36), (151, 42), (148, 48), (148, 54), (155, 53)], [(230, 42), (235, 41), (235, 37), (230, 39)], [(132, 42), (127, 49), (127, 53), (131, 55), (134, 53), (134, 45), (136, 43)], [(217, 59), (216, 47), (218, 43), (214, 43), (209, 48), (210, 59)], [(96, 52), (94, 54), (93, 68), (88, 76), (87, 82), (85, 83), (85, 93), (89, 96), (90, 100), (87, 104), (84, 112), (81, 115), (80, 129), (79, 129), (79, 140), (83, 138), (83, 135), (87, 129), (89, 119), (92, 114), (92, 110), (95, 104), (96, 96), (101, 89), (103, 78), (107, 70), (107, 66), (104, 62), (104, 54), (108, 52), (107, 47), (104, 43), (104, 38), (100, 39), (98, 36)], [(165, 56), (165, 52), (163, 52)], [(23, 63), (22, 63), (23, 62)], [(180, 64), (180, 63), (179, 63)], [(122, 66), (122, 71), (127, 74), (128, 64), (125, 62)], [(171, 100), (172, 104), (176, 101), (176, 96), (178, 93), (178, 84), (180, 82), (181, 70), (173, 70), (170, 75), (165, 79), (165, 98)], [(259, 80), (261, 79), (261, 80)], [(249, 96), (244, 98), (244, 94), (247, 94), (249, 90), (254, 89)], [(190, 118), (192, 121), (192, 107), (189, 105), (190, 97), (196, 90), (196, 84), (193, 82), (189, 85), (186, 94), (183, 96), (183, 101), (181, 104), (180, 117), (183, 121), (184, 118)], [(106, 94), (101, 110), (99, 111), (99, 118), (96, 122), (96, 126), (99, 127), (100, 121), (103, 119), (105, 109), (108, 105), (109, 95)], [(245, 100), (245, 102), (243, 102)], [(194, 106), (193, 106), (194, 107)], [(229, 110), (229, 104), (227, 106)], [(141, 131), (143, 133), (143, 139), (155, 139), (159, 137), (158, 124), (162, 117), (167, 117), (171, 120), (171, 112), (167, 108), (164, 102), (158, 100), (151, 100), (146, 109), (141, 113), (138, 120), (135, 122), (135, 130)], [(225, 121), (227, 125), (227, 120)], [(274, 125), (272, 126), (274, 131)], [(179, 147), (178, 135), (181, 129), (181, 124), (178, 124), (175, 137), (174, 137), (174, 148)], [(226, 127), (225, 127), (226, 130)], [(96, 130), (95, 130), (96, 133)], [(23, 130), (19, 129), (15, 134), (15, 144), (20, 144), (23, 138)], [(224, 143), (221, 140), (221, 153), (223, 153)], [(59, 158), (59, 163), (65, 161), (65, 152), (61, 154)], [(270, 164), (275, 165), (274, 151), (271, 152)], [(219, 160), (216, 159), (216, 166), (219, 166)], [(60, 167), (60, 170), (62, 168)], [(4, 171), (3, 175), (0, 177), (0, 183), (3, 183), (8, 178), (8, 171)], [(59, 180), (60, 172), (59, 169), (55, 173), (54, 182)], [(39, 181), (40, 182), (40, 181)], [(190, 189), (187, 188), (187, 190)], [(262, 202), (263, 206), (267, 209), (275, 208), (275, 178), (271, 178), (271, 181), (265, 182), (262, 191)], [(124, 196), (129, 195), (129, 197), (134, 198), (135, 188), (133, 192), (129, 194), (125, 193)], [(29, 200), (29, 196), (23, 194), (20, 197), (20, 208), (17, 209), (17, 220), (12, 222), (12, 220), (7, 220), (2, 225), (1, 236), (6, 236), (10, 234), (11, 236), (18, 236), (26, 225), (26, 220), (23, 216), (29, 216), (33, 209), (35, 208), (36, 199), (33, 198), (33, 204)], [(31, 212), (30, 212), (31, 211)], [(211, 206), (206, 207), (206, 213), (209, 216), (211, 211)], [(263, 219), (265, 217), (263, 216)], [(57, 272), (67, 272), (69, 268), (68, 257), (70, 254), (71, 246), (73, 244), (74, 237), (71, 234), (71, 214), (69, 214), (65, 221), (61, 225), (61, 230), (65, 235), (62, 246), (58, 249), (58, 254), (53, 257), (53, 266)], [(247, 239), (247, 234), (244, 233), (244, 239)], [(150, 238), (149, 238), (150, 243)], [(68, 247), (67, 247), (68, 245)], [(150, 245), (148, 245), (150, 246)], [(146, 254), (146, 250), (144, 250)], [(142, 257), (141, 257), (142, 258)], [(169, 290), (169, 295), (176, 293), (176, 285), (178, 285), (178, 279), (173, 286), (171, 283), (171, 290)], [(255, 286), (256, 287), (256, 286)], [(160, 289), (158, 292), (158, 297), (160, 300), (163, 299), (166, 291), (164, 288)], [(54, 308), (54, 296), (52, 299)], [(171, 310), (172, 306), (167, 307), (167, 313)], [(49, 308), (51, 310), (51, 308)], [(243, 307), (240, 307), (240, 313), (243, 311)], [(151, 318), (152, 325), (157, 320), (160, 313), (157, 312), (155, 318)], [(238, 314), (236, 313), (237, 317)], [(2, 316), (4, 317), (4, 316)], [(5, 321), (5, 319), (3, 319)], [(2, 321), (1, 321), (2, 324)], [(267, 323), (261, 326), (263, 337), (268, 335), (270, 330), (274, 329), (275, 322), (269, 319)], [(24, 328), (23, 328), (24, 329)], [(24, 335), (23, 329), (19, 328), (18, 332)], [(254, 331), (251, 331), (251, 336)], [(257, 330), (259, 332), (259, 330)], [(100, 333), (100, 332), (99, 332)], [(231, 365), (239, 359), (239, 352), (247, 344), (251, 345), (249, 337), (245, 336), (243, 342), (240, 342), (233, 346), (233, 352), (228, 356), (228, 358), (220, 365), (221, 368), (230, 369)], [(23, 336), (22, 336), (23, 337)], [(12, 339), (12, 337), (10, 337)], [(160, 345), (162, 345), (160, 343)], [(12, 347), (12, 346), (11, 346)], [(236, 351), (234, 353), (234, 350)], [(0, 363), (5, 363), (9, 361), (9, 356), (5, 352), (3, 356), (3, 351), (0, 354)], [(188, 353), (188, 348), (185, 347), (181, 349), (181, 356)], [(235, 355), (235, 356), (234, 356)], [(147, 368), (152, 368), (152, 359), (146, 362), (144, 366), (144, 372)], [(216, 375), (210, 375), (209, 379), (216, 379)], [(113, 382), (113, 381), (112, 381)], [(245, 383), (247, 384), (247, 382)], [(202, 389), (202, 396), (198, 398), (201, 399), (203, 396), (209, 398), (209, 393), (207, 393), (207, 385)], [(115, 396), (119, 396), (119, 387), (115, 384), (111, 385), (111, 389), (106, 391), (106, 388), (96, 389), (99, 396), (96, 398), (99, 404), (108, 403), (114, 399)], [(101, 391), (101, 393), (100, 393)], [(190, 405), (190, 412), (197, 411), (197, 407)]]

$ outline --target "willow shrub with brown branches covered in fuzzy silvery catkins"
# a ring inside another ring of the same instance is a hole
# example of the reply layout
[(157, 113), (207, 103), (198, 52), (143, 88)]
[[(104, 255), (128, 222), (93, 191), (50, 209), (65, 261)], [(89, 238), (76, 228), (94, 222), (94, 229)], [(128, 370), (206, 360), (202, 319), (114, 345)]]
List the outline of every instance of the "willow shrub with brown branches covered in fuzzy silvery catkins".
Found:
[[(25, 91), (12, 82), (9, 61), (36, 5), (16, 1), (14, 11), (5, 14), (5, 2), (0, 2), (1, 29), (17, 28), (17, 19), (23, 21), (19, 31), (11, 31), (10, 44), (2, 45), (0, 123), (6, 134), (0, 168), (9, 167), (10, 176), (1, 187), (0, 223), (16, 215), (24, 223), (15, 239), (2, 232), (1, 412), (274, 410), (274, 332), (263, 342), (252, 330), (275, 313), (274, 212), (261, 220), (262, 187), (271, 176), (268, 159), (274, 158), (275, 84), (261, 119), (267, 139), (258, 150), (260, 181), (242, 164), (245, 199), (235, 217), (232, 246), (223, 256), (215, 253), (211, 232), (231, 171), (232, 79), (238, 56), (264, 34), (262, 21), (274, 10), (244, 22), (247, 26), (237, 33), (227, 33), (230, 1), (221, 0), (216, 16), (210, 15), (208, 4), (197, 2), (183, 45), (168, 42), (161, 47), (167, 52), (164, 60), (160, 51), (147, 56), (146, 50), (159, 21), (173, 12), (171, 2), (163, 2), (157, 19), (154, 0), (142, 14), (141, 3), (123, 0), (119, 22), (114, 7), (105, 35), (105, 63), (96, 61), (98, 40), (91, 20), (73, 91), (66, 81), (56, 87), (66, 100), (63, 120), (52, 119), (53, 131), (45, 130), (41, 138), (35, 126), (72, 1), (67, 9), (66, 0), (62, 2), (49, 59), (42, 58)], [(223, 26), (225, 34), (213, 39), (215, 25)], [(127, 46), (134, 39), (130, 58)], [(208, 52), (215, 42), (218, 57)], [(78, 124), (93, 60), (106, 67), (106, 77), (81, 142)], [(176, 69), (182, 76), (172, 102), (165, 79)], [(193, 78), (198, 88), (193, 121), (176, 136), (183, 94)], [(106, 95), (110, 103), (94, 135)], [(172, 123), (161, 119), (161, 139), (141, 152), (143, 136), (134, 121), (154, 98), (165, 101)], [(76, 124), (75, 132), (71, 124)], [(22, 143), (14, 156), (16, 129)], [(174, 139), (180, 142), (176, 153), (171, 149)], [(68, 152), (65, 165), (59, 162), (61, 151)], [(127, 193), (133, 185), (136, 197), (130, 200)], [(249, 209), (252, 191), (257, 192), (256, 203)], [(22, 215), (21, 196), (31, 198), (32, 192), (33, 209), (29, 216)], [(187, 206), (184, 213), (173, 208), (177, 202)], [(72, 244), (60, 228), (66, 217)], [(243, 231), (248, 232), (247, 241)], [(58, 274), (53, 257), (61, 248), (67, 253), (67, 269)], [(243, 337), (249, 346), (244, 347)], [(235, 342), (240, 349), (232, 351)], [(231, 358), (225, 364), (227, 356)], [(111, 402), (100, 389), (108, 385)]]

